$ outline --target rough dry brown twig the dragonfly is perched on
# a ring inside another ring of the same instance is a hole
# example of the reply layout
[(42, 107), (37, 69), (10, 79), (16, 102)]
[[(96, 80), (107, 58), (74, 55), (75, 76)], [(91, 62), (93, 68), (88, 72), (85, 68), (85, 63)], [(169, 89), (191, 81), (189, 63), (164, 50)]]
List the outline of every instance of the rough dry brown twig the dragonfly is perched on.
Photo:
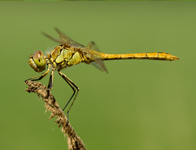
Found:
[(45, 101), (46, 111), (51, 112), (49, 119), (57, 117), (55, 122), (59, 127), (62, 127), (62, 132), (64, 133), (64, 135), (67, 135), (68, 149), (86, 150), (84, 143), (82, 142), (80, 137), (77, 136), (71, 124), (67, 123), (67, 117), (55, 101), (54, 96), (49, 90), (46, 90), (47, 87), (40, 82), (26, 81), (26, 84), (28, 84), (28, 88), (26, 89), (27, 92), (37, 93), (37, 95)]

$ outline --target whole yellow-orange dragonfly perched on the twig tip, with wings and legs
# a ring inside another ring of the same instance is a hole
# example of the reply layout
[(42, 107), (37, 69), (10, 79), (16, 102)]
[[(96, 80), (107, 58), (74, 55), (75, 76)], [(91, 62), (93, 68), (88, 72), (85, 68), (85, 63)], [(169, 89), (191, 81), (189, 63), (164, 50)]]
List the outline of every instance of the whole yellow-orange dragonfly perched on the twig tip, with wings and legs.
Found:
[[(56, 32), (59, 34), (59, 39), (53, 38), (52, 36), (43, 33), (46, 37), (53, 41), (59, 43), (58, 46), (54, 47), (50, 53), (44, 55), (42, 51), (36, 51), (33, 55), (29, 56), (29, 65), (36, 72), (43, 72), (42, 74), (31, 77), (27, 80), (38, 81), (45, 77), (50, 72), (49, 83), (47, 90), (53, 88), (54, 71), (67, 82), (67, 84), (72, 88), (73, 94), (69, 98), (66, 105), (63, 107), (62, 111), (70, 104), (67, 110), (67, 117), (69, 120), (69, 112), (76, 100), (79, 92), (79, 87), (64, 73), (61, 72), (62, 69), (74, 66), (81, 62), (86, 64), (93, 64), (98, 69), (108, 73), (105, 67), (104, 60), (120, 60), (120, 59), (150, 59), (150, 60), (168, 60), (174, 61), (179, 58), (165, 52), (152, 52), (152, 53), (130, 53), (130, 54), (107, 54), (101, 53), (97, 48), (96, 44), (91, 41), (86, 46), (79, 44), (69, 38), (67, 35), (62, 33), (59, 29), (55, 28)], [(46, 69), (47, 68), (47, 69)], [(25, 81), (27, 81), (25, 80)]]

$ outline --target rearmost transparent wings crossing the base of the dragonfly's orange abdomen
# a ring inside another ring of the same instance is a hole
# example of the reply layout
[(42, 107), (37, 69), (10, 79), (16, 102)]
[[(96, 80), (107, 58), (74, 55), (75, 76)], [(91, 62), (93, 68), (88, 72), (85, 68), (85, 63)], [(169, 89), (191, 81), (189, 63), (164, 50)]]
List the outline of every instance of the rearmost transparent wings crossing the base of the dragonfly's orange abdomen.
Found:
[(91, 50), (97, 51), (99, 52), (98, 47), (95, 45), (95, 43), (93, 41), (91, 41), (87, 46), (86, 49), (84, 50), (84, 54), (86, 53), (87, 57), (90, 56), (90, 58), (92, 60), (94, 60), (94, 62), (92, 62), (92, 64), (98, 68), (101, 71), (105, 71), (106, 73), (108, 73), (107, 68), (105, 67), (101, 55), (99, 53), (93, 52)]

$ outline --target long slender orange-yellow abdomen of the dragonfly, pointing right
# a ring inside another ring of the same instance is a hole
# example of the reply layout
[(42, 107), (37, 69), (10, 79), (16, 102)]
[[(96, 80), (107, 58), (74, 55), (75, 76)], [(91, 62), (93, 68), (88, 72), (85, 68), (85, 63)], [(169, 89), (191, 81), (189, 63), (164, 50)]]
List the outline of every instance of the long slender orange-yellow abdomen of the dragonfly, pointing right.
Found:
[(152, 59), (152, 60), (178, 60), (179, 58), (165, 52), (154, 53), (135, 53), (135, 54), (104, 54), (102, 53), (103, 60), (114, 59)]

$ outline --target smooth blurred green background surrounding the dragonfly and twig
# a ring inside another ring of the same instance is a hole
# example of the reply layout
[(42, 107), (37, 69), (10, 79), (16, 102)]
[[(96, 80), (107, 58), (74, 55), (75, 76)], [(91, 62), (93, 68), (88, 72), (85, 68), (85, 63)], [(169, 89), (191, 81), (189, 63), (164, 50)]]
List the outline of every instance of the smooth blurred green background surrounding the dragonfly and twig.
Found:
[[(0, 149), (68, 149), (44, 102), (25, 91), (36, 50), (54, 27), (105, 53), (168, 52), (178, 61), (116, 60), (109, 74), (86, 64), (63, 70), (80, 93), (70, 122), (89, 150), (196, 149), (195, 2), (1, 2)], [(41, 82), (48, 83), (47, 76)], [(61, 107), (71, 88), (55, 73)]]

